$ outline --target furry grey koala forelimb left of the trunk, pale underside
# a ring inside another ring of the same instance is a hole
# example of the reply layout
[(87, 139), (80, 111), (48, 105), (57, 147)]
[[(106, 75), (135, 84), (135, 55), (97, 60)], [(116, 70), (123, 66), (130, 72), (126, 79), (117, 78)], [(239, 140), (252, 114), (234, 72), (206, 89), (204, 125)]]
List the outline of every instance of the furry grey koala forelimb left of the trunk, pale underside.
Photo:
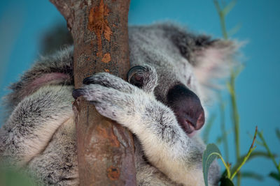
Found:
[(0, 129), (0, 155), (16, 165), (41, 153), (57, 128), (73, 116), (72, 86), (43, 86), (25, 97)]

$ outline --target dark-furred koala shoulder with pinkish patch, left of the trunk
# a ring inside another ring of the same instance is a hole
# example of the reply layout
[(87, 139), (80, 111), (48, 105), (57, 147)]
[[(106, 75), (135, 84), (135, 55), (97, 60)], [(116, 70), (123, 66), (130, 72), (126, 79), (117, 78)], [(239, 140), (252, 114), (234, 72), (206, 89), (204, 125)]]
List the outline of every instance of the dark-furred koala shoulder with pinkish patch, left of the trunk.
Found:
[(41, 56), (34, 65), (9, 87), (3, 103), (11, 111), (28, 95), (46, 85), (73, 84), (73, 47), (57, 51), (50, 56)]

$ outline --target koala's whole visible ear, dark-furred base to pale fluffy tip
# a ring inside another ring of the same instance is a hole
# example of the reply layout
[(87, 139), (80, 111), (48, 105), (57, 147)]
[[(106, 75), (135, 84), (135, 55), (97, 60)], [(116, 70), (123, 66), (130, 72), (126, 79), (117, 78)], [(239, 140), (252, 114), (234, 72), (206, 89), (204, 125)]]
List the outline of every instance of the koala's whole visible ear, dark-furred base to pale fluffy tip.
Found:
[(214, 86), (214, 79), (230, 74), (237, 49), (241, 46), (239, 42), (213, 40), (210, 36), (188, 33), (180, 27), (166, 30), (181, 55), (193, 65), (200, 84)]

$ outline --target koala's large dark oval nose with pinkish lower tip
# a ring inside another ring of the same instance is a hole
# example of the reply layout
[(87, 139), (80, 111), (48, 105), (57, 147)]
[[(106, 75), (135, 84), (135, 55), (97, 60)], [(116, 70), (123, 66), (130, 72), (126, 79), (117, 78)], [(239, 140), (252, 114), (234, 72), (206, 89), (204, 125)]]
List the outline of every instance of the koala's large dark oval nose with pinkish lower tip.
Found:
[(200, 98), (183, 84), (169, 89), (167, 104), (173, 109), (179, 124), (189, 137), (204, 125), (204, 109)]

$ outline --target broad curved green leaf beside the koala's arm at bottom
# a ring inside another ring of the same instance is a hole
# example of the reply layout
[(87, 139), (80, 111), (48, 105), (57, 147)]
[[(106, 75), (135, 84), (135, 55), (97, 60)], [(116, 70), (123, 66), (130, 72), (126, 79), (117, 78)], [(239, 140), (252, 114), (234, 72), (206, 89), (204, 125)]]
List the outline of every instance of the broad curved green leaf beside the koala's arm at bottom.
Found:
[(215, 144), (208, 144), (202, 155), (204, 183), (208, 186), (208, 169), (216, 157), (222, 157), (220, 150)]

